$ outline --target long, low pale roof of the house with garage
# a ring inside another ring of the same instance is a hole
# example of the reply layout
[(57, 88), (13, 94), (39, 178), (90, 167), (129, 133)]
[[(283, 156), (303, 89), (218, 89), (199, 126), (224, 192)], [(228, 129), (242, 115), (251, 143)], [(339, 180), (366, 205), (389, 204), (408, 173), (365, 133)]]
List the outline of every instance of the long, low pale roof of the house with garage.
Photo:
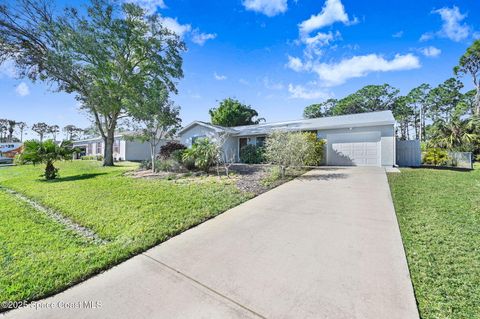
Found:
[(261, 123), (256, 125), (244, 125), (234, 127), (222, 127), (210, 123), (194, 121), (179, 131), (178, 134), (188, 130), (194, 125), (202, 125), (214, 129), (215, 131), (228, 131), (236, 136), (261, 135), (268, 134), (275, 130), (284, 131), (309, 131), (326, 130), (335, 128), (349, 128), (362, 126), (393, 125), (395, 118), (391, 111), (379, 111), (358, 113), (349, 115), (339, 115), (330, 117), (320, 117), (314, 119), (302, 119), (283, 122)]

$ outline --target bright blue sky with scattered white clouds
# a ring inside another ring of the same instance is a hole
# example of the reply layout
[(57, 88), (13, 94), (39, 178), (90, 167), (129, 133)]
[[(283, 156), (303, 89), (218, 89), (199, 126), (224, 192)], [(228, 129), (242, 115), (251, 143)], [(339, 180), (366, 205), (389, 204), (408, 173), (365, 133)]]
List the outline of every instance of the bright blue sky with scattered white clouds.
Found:
[[(225, 97), (267, 121), (297, 119), (305, 106), (368, 84), (407, 93), (452, 76), (480, 38), (480, 1), (135, 0), (185, 40), (185, 77), (174, 100), (183, 124), (209, 120)], [(61, 1), (78, 5), (78, 1)], [(473, 88), (465, 78), (466, 88)], [(0, 66), (0, 118), (90, 124), (72, 95), (16, 79)], [(27, 136), (28, 137), (28, 136)]]

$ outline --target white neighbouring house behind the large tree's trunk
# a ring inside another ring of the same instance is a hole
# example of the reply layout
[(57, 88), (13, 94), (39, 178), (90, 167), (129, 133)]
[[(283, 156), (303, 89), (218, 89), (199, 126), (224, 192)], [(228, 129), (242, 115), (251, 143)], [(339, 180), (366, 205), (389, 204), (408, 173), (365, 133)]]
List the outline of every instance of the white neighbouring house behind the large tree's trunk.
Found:
[[(144, 161), (150, 159), (150, 143), (140, 142), (138, 140), (130, 140), (132, 132), (119, 133), (115, 135), (113, 143), (113, 158), (117, 161)], [(161, 141), (157, 145), (158, 153), (160, 147), (166, 141)], [(73, 141), (73, 146), (80, 149), (77, 158), (83, 156), (103, 156), (104, 142), (102, 137), (89, 138), (84, 140)]]

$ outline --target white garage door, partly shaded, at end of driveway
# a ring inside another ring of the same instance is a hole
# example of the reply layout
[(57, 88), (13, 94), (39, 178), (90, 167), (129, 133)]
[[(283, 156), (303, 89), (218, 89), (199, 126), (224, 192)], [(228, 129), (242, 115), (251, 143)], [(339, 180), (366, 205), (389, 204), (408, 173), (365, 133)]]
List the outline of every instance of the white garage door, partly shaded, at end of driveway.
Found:
[(328, 134), (327, 164), (380, 166), (380, 132)]

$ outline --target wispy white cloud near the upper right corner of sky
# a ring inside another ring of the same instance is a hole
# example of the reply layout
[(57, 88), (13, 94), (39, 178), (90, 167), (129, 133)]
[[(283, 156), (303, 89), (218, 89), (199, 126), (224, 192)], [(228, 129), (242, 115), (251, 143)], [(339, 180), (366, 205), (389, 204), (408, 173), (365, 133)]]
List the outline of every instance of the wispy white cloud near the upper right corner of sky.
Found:
[(462, 14), (457, 6), (434, 10), (433, 13), (438, 13), (443, 21), (442, 29), (438, 32), (440, 36), (457, 42), (468, 37), (470, 27), (462, 23), (467, 15)]

